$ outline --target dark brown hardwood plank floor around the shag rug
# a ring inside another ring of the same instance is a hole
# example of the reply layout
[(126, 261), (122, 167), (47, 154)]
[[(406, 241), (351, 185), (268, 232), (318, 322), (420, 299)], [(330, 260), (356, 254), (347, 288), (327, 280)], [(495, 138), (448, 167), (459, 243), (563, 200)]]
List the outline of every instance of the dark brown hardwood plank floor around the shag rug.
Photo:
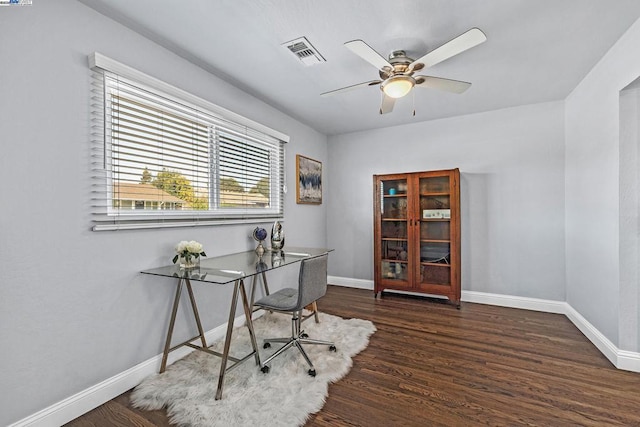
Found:
[[(338, 286), (318, 306), (378, 331), (306, 426), (640, 426), (640, 374), (614, 368), (565, 316)], [(68, 424), (169, 425), (129, 393)]]

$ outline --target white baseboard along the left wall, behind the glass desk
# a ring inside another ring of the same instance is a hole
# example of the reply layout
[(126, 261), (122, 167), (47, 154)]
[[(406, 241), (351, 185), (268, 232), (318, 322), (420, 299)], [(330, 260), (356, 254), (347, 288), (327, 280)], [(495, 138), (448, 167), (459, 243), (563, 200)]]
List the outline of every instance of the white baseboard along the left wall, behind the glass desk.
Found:
[[(259, 317), (260, 312), (254, 314), (254, 317)], [(242, 326), (245, 324), (244, 314), (235, 319), (235, 326)], [(218, 326), (205, 332), (205, 339), (207, 343), (214, 342), (222, 339), (227, 331), (227, 324)], [(194, 340), (193, 342), (197, 342)], [(187, 354), (195, 351), (190, 347), (181, 347), (169, 353), (167, 364), (170, 365), (178, 359), (183, 358)], [(140, 384), (140, 382), (149, 375), (155, 374), (160, 370), (160, 364), (162, 363), (162, 354), (154, 356), (136, 366), (127, 369), (111, 378), (108, 378), (101, 383), (98, 383), (86, 390), (74, 394), (58, 403), (55, 403), (48, 408), (45, 408), (35, 414), (23, 418), (22, 420), (9, 425), (9, 427), (57, 427), (71, 420), (78, 418), (82, 414), (86, 414), (94, 408), (108, 402), (109, 400), (120, 396), (127, 390)]]

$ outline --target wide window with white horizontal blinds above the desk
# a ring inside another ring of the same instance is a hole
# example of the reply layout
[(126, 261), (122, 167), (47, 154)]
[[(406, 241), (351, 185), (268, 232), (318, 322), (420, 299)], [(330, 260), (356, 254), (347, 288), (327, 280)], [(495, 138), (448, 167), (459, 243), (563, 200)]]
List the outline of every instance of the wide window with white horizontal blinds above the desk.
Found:
[(283, 216), (286, 135), (95, 53), (94, 230)]

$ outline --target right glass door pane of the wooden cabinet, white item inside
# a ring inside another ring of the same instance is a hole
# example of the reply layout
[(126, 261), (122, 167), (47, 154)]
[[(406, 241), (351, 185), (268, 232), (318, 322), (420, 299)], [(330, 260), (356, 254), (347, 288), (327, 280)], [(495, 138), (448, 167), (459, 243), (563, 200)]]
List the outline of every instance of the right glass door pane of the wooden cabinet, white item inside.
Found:
[(420, 283), (451, 285), (451, 194), (448, 176), (422, 177)]

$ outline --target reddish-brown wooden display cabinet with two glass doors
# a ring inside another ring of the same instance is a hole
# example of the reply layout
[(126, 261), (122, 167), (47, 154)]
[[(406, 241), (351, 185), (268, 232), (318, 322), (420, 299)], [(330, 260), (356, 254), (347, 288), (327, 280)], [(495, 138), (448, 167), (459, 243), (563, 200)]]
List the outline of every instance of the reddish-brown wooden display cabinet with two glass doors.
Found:
[(374, 292), (447, 297), (460, 307), (460, 171), (374, 175)]

